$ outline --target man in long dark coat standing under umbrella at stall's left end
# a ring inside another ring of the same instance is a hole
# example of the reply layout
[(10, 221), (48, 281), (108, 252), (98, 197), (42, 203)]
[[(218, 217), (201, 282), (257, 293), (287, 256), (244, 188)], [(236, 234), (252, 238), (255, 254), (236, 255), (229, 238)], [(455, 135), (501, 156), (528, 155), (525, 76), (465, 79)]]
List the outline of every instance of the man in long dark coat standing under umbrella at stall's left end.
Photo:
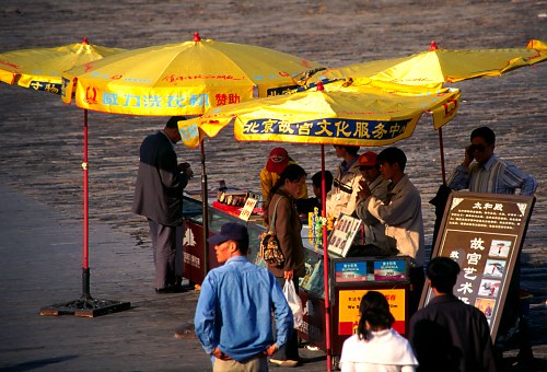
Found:
[(183, 221), (183, 191), (194, 173), (188, 163), (177, 164), (174, 144), (181, 141), (172, 117), (163, 130), (148, 136), (140, 147), (140, 163), (132, 211), (148, 218), (155, 267), (156, 293), (178, 291), (175, 286), (177, 226)]

